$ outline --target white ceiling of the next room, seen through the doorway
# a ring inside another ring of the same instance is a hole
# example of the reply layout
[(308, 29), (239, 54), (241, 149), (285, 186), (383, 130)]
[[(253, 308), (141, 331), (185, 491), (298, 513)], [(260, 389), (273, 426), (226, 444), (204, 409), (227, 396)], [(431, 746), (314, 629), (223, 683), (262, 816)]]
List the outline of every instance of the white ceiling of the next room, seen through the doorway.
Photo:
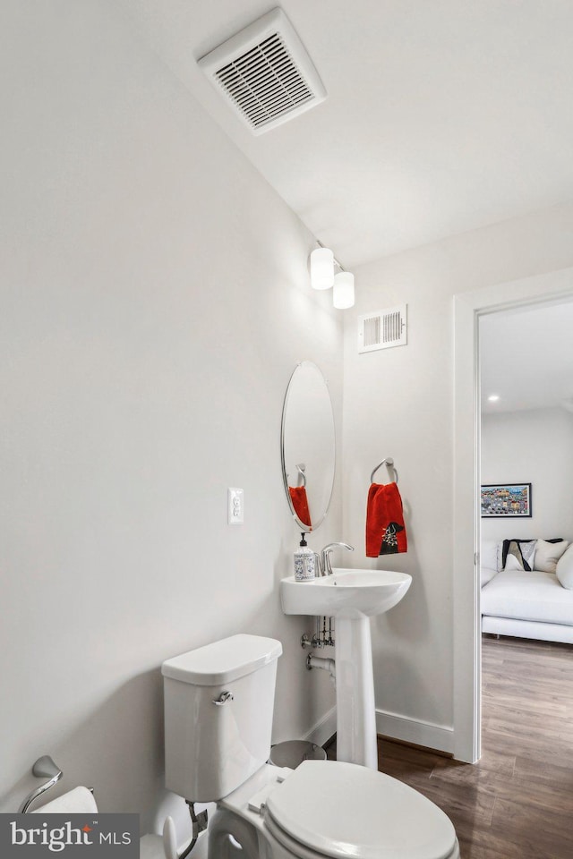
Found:
[(483, 412), (573, 412), (573, 301), (485, 316), (479, 342)]

